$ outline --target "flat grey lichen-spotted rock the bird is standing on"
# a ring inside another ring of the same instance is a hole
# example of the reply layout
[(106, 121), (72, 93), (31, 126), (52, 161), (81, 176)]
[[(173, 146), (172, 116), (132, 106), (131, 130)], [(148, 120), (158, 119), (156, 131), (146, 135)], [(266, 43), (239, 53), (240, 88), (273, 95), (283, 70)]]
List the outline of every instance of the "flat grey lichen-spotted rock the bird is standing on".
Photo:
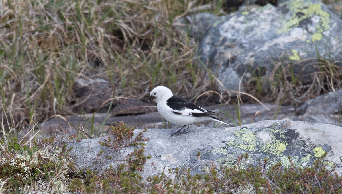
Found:
[[(152, 158), (144, 164), (143, 177), (156, 175), (160, 172), (168, 173), (168, 169), (192, 168), (191, 173), (202, 173), (208, 170), (213, 162), (216, 166), (233, 166), (237, 164), (237, 157), (248, 153), (248, 162), (240, 163), (257, 164), (258, 159), (268, 158), (269, 165), (278, 163), (288, 166), (291, 156), (292, 163), (296, 166), (312, 165), (316, 157), (328, 152), (326, 159), (330, 165), (341, 165), (342, 158), (342, 128), (334, 125), (307, 123), (301, 121), (262, 121), (237, 127), (204, 128), (190, 127), (188, 134), (170, 137), (170, 132), (177, 129), (148, 129), (144, 138), (149, 138), (145, 143), (145, 155)], [(134, 133), (141, 130), (136, 129)], [(92, 160), (96, 158), (100, 150), (110, 153), (100, 146), (101, 139), (82, 140), (69, 144), (74, 146), (70, 154), (76, 154), (78, 164), (83, 167), (91, 167)], [(97, 169), (105, 169), (109, 164), (118, 164), (134, 148), (122, 149), (119, 153), (113, 153), (113, 160), (105, 161), (96, 166)], [(197, 157), (200, 152), (200, 157)], [(341, 174), (342, 169), (336, 168)], [(172, 175), (171, 175), (172, 176)]]

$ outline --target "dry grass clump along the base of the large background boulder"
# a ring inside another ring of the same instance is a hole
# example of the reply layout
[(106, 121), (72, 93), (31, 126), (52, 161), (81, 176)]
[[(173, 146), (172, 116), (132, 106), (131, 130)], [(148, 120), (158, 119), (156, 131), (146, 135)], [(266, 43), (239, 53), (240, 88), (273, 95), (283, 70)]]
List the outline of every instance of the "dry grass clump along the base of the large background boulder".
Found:
[[(302, 64), (306, 64), (304, 69), (315, 69), (314, 73), (302, 74)], [(285, 103), (299, 106), (306, 100), (341, 89), (342, 83), (341, 66), (323, 58), (304, 59), (294, 64), (275, 61), (268, 78), (257, 74), (248, 80), (248, 92), (262, 101), (278, 105)]]

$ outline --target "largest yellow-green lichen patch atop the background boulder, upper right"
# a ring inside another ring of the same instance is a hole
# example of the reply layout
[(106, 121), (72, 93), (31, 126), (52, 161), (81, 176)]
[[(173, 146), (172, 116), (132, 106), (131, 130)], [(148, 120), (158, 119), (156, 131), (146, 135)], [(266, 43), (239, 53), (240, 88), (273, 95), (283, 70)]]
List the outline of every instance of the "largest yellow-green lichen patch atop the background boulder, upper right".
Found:
[[(321, 9), (320, 3), (304, 2), (304, 0), (293, 1), (289, 8), (294, 11), (290, 20), (288, 20), (277, 33), (284, 33), (290, 31), (293, 27), (298, 27), (299, 23), (307, 18), (313, 16), (319, 17), (319, 22), (316, 25), (316, 33), (312, 34), (311, 41), (315, 42), (323, 38), (323, 31), (330, 28), (330, 14)], [(301, 13), (301, 16), (298, 16)]]

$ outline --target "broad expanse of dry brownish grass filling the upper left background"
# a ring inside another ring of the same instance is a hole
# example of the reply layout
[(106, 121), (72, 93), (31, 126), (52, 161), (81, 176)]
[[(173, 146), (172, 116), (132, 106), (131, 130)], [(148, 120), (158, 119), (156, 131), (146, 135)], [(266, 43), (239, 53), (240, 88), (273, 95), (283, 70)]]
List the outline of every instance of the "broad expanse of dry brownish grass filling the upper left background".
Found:
[(172, 26), (176, 18), (210, 4), (196, 0), (0, 3), (0, 113), (11, 127), (73, 114), (76, 78), (105, 79), (116, 97), (142, 97), (156, 85), (181, 86), (177, 93), (199, 94), (211, 85), (193, 62), (194, 41)]

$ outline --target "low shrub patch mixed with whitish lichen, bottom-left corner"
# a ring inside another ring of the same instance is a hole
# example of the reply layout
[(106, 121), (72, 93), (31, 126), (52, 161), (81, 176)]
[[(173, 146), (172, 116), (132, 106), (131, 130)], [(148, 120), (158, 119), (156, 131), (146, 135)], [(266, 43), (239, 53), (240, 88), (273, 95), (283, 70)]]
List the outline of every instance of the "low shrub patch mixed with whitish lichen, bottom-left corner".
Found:
[(65, 191), (68, 179), (76, 171), (73, 158), (68, 155), (62, 139), (52, 137), (31, 144), (17, 143), (17, 138), (1, 140), (5, 145), (0, 159), (0, 190), (3, 193), (20, 193), (26, 190)]

